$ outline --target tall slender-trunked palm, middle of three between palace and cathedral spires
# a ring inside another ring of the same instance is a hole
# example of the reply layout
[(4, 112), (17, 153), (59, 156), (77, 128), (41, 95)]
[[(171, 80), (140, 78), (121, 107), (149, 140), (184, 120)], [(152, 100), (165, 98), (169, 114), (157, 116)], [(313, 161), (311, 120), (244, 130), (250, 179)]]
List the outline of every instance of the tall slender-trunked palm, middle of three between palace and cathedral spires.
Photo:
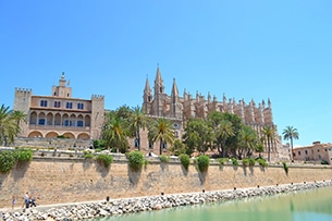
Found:
[(135, 131), (135, 136), (137, 139), (137, 148), (140, 150), (140, 135), (139, 135), (139, 130), (147, 128), (149, 119), (144, 112), (143, 108), (139, 106), (135, 107), (132, 109), (132, 114), (130, 116), (130, 127)]

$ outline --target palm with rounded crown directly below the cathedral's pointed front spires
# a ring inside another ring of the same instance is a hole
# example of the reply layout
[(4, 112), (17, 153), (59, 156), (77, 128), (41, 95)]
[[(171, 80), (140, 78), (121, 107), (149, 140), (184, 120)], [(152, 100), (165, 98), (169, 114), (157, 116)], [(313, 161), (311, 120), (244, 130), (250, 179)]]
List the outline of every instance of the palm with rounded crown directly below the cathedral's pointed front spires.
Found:
[(158, 119), (155, 121), (152, 127), (150, 128), (150, 134), (152, 135), (152, 142), (159, 139), (159, 154), (162, 155), (162, 146), (165, 143), (171, 145), (174, 142), (174, 130), (170, 121), (165, 119)]

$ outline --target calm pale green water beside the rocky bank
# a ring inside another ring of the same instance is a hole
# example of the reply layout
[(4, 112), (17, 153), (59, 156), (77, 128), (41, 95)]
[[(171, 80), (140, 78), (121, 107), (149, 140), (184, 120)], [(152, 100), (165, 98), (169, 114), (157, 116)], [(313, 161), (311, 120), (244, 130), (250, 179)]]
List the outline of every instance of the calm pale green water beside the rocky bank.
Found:
[(332, 221), (332, 187), (98, 219), (114, 220)]

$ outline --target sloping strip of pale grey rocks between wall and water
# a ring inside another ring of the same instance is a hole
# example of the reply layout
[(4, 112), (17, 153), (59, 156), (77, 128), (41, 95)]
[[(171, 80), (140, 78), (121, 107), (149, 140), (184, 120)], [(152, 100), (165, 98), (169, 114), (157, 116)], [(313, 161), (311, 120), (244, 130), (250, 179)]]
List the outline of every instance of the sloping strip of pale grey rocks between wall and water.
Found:
[(265, 187), (253, 187), (243, 189), (228, 189), (200, 192), (189, 194), (174, 194), (137, 197), (127, 199), (114, 199), (110, 201), (96, 201), (86, 204), (75, 204), (71, 206), (54, 206), (50, 209), (34, 207), (25, 211), (2, 211), (0, 220), (5, 221), (34, 221), (34, 220), (56, 220), (72, 221), (102, 218), (123, 213), (135, 213), (140, 211), (160, 210), (164, 208), (190, 206), (198, 204), (210, 204), (232, 199), (241, 199), (255, 196), (268, 196), (281, 193), (290, 193), (305, 189), (332, 186), (332, 181), (321, 181), (313, 183), (286, 184)]

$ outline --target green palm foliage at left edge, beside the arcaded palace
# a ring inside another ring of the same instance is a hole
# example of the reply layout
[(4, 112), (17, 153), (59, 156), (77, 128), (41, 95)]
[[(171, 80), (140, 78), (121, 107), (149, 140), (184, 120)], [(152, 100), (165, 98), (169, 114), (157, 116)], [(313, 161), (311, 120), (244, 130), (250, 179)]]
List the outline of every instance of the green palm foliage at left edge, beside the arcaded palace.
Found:
[(9, 110), (9, 107), (2, 105), (0, 107), (0, 145), (14, 143), (14, 137), (20, 134), (20, 132), (17, 119), (14, 118), (13, 112)]

